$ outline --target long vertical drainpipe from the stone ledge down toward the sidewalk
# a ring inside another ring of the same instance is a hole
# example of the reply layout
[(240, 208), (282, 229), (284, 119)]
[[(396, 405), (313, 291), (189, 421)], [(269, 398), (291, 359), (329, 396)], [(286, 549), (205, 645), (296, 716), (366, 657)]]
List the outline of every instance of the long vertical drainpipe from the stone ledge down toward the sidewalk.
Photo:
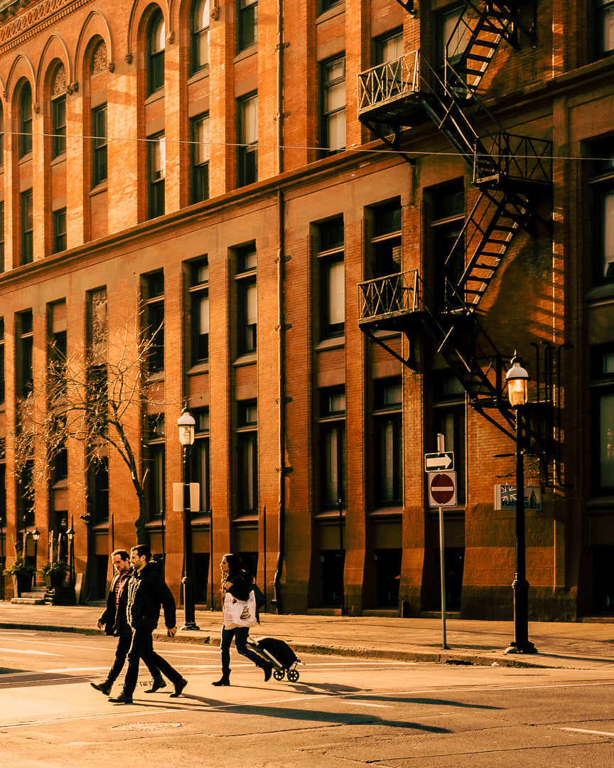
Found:
[(282, 613), (282, 601), (279, 592), (279, 582), (282, 578), (283, 561), (286, 554), (286, 330), (289, 326), (284, 322), (284, 279), (286, 276), (286, 249), (284, 241), (284, 211), (285, 201), (283, 192), (277, 193), (278, 215), (278, 250), (277, 250), (277, 332), (279, 344), (277, 346), (277, 370), (279, 372), (277, 387), (277, 418), (279, 429), (279, 462), (277, 472), (279, 474), (278, 492), (278, 554), (277, 568), (275, 572), (274, 591), (277, 613)]

